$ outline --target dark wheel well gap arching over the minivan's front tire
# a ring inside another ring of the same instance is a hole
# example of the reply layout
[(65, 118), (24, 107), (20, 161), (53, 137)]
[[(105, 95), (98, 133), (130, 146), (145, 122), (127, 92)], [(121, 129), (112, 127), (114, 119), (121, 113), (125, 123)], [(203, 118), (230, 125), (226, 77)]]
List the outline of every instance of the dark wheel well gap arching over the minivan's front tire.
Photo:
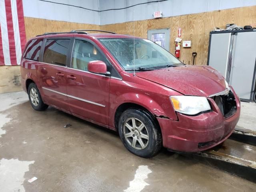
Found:
[[(119, 120), (121, 114), (122, 114), (125, 110), (127, 110), (127, 109), (129, 109), (129, 108), (137, 108), (137, 109), (145, 110), (146, 112), (148, 112), (149, 115), (152, 116), (152, 118), (155, 120), (156, 124), (158, 124), (158, 127), (160, 128), (160, 125), (159, 125), (158, 120), (156, 119), (156, 117), (155, 117), (152, 113), (150, 113), (150, 111), (148, 111), (146, 108), (144, 108), (144, 107), (141, 106), (141, 105), (135, 104), (135, 103), (123, 103), (123, 104), (121, 104), (121, 105), (117, 108), (116, 113), (115, 113), (115, 119), (114, 119), (114, 120), (115, 120), (115, 128), (116, 128), (116, 130), (118, 129), (118, 120)], [(161, 131), (161, 129), (160, 129), (160, 131)], [(162, 134), (162, 133), (161, 133), (161, 134)]]

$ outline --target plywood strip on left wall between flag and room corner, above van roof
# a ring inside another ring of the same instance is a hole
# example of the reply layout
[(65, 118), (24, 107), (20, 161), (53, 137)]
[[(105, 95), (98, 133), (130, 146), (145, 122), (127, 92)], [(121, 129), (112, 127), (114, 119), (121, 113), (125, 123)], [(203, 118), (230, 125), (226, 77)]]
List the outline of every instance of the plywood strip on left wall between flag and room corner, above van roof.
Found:
[(56, 20), (24, 17), (27, 40), (45, 32), (69, 32), (76, 29), (99, 30), (99, 25), (72, 23)]

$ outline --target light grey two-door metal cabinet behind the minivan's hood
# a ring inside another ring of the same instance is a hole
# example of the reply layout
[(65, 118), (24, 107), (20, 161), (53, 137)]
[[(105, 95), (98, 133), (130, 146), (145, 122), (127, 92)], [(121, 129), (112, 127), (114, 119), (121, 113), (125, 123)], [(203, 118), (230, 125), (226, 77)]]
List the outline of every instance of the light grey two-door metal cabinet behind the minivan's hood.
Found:
[(210, 32), (207, 65), (218, 70), (241, 100), (255, 91), (256, 29)]

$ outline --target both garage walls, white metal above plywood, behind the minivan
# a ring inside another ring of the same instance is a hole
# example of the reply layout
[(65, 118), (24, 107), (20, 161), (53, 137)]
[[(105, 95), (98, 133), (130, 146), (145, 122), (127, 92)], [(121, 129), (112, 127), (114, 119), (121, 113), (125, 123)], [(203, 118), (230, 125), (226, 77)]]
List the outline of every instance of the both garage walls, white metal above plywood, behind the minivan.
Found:
[[(52, 2), (59, 2), (51, 0)], [(134, 34), (147, 38), (150, 29), (170, 28), (170, 52), (174, 53), (174, 39), (178, 27), (182, 28), (182, 40), (191, 40), (191, 48), (181, 48), (180, 60), (192, 63), (192, 52), (197, 52), (195, 64), (207, 63), (209, 32), (214, 27), (225, 28), (228, 23), (239, 26), (255, 25), (256, 0), (168, 0), (159, 2), (159, 10), (164, 18), (152, 19), (158, 10), (158, 3), (124, 8), (146, 0), (63, 0), (72, 4), (101, 12), (90, 11), (74, 6), (54, 4), (40, 0), (23, 0), (24, 20), (27, 40), (44, 32), (63, 32), (74, 29), (100, 29), (119, 34)], [(178, 3), (180, 2), (180, 3)], [(241, 6), (241, 7), (240, 7)], [(233, 8), (239, 7), (239, 8)], [(133, 18), (133, 11), (135, 12)], [(135, 23), (133, 23), (133, 19)], [(21, 90), (20, 66), (0, 66), (0, 93)]]

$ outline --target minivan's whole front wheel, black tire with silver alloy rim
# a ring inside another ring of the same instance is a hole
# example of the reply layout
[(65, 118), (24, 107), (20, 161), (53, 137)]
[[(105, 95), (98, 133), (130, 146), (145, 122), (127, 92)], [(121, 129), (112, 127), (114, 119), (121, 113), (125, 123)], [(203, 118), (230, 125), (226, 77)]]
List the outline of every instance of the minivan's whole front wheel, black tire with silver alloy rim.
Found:
[(133, 154), (150, 158), (162, 148), (162, 134), (151, 114), (130, 108), (122, 113), (118, 132), (124, 146)]

